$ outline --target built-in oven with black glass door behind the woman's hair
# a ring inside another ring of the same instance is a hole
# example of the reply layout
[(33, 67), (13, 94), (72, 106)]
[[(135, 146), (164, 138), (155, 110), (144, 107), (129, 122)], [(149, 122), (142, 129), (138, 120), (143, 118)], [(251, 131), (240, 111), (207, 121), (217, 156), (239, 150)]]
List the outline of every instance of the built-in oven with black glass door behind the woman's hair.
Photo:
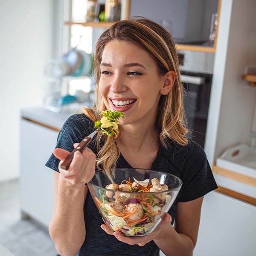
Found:
[(187, 136), (204, 147), (211, 95), (214, 53), (178, 51)]

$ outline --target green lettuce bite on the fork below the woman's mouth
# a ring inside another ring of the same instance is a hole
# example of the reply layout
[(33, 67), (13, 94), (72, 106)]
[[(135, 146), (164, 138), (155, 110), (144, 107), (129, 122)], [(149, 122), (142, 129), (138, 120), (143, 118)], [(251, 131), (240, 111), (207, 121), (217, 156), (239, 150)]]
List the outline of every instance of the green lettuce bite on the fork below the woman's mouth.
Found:
[(97, 128), (96, 131), (101, 131), (103, 134), (107, 134), (110, 137), (115, 136), (116, 138), (117, 134), (119, 134), (117, 122), (119, 118), (124, 117), (123, 113), (107, 110), (101, 114), (103, 115), (102, 119), (94, 123), (94, 127)]

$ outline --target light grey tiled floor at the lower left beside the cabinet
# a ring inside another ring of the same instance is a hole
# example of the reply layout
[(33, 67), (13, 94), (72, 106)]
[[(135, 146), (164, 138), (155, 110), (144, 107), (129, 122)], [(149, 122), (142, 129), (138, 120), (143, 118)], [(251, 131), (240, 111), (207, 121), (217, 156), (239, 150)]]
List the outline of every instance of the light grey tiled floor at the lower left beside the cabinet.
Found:
[(55, 256), (47, 228), (21, 219), (19, 180), (0, 182), (0, 244), (15, 256)]

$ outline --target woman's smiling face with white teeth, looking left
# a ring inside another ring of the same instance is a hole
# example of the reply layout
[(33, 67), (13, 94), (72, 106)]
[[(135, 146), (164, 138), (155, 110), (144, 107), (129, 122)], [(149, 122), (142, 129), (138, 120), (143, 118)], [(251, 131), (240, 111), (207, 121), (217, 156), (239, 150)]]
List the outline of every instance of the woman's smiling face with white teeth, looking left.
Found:
[(107, 109), (124, 113), (120, 124), (150, 118), (154, 122), (164, 82), (148, 52), (125, 41), (111, 41), (104, 48), (100, 72), (102, 100)]

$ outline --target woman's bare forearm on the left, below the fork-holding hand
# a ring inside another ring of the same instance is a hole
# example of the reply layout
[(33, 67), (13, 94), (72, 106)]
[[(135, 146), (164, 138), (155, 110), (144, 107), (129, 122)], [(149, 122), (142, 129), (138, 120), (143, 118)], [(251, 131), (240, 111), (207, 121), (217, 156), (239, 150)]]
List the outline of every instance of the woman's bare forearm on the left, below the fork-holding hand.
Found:
[(49, 234), (61, 256), (76, 256), (85, 239), (84, 186), (69, 186), (61, 175)]

